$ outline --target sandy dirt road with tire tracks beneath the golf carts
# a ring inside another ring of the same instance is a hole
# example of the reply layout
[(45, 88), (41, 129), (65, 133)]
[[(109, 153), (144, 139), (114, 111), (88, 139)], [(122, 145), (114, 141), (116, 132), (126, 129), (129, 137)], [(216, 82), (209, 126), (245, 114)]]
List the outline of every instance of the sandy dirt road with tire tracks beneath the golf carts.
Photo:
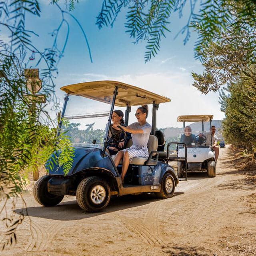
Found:
[[(17, 244), (0, 255), (256, 255), (255, 180), (234, 168), (232, 156), (220, 149), (216, 178), (189, 174), (173, 198), (113, 198), (100, 213), (84, 213), (72, 196), (42, 207), (27, 192), (32, 222), (24, 219)], [(17, 202), (15, 212), (22, 210)]]

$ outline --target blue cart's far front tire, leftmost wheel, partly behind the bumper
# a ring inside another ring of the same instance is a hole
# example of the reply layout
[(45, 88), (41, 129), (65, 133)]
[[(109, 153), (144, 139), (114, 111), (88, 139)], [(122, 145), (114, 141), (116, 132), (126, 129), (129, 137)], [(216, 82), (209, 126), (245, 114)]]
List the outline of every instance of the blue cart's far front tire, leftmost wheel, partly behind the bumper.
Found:
[(44, 175), (34, 185), (33, 194), (36, 202), (43, 206), (54, 206), (59, 204), (64, 196), (57, 196), (48, 192), (48, 180), (50, 176)]

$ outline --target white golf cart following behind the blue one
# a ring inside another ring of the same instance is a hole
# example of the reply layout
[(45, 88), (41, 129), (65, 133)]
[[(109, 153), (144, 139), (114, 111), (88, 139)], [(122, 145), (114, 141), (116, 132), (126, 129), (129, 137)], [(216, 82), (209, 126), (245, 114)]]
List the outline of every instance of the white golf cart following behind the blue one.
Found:
[[(212, 130), (208, 127), (207, 131), (205, 131), (204, 122), (209, 122), (211, 127), (212, 118), (213, 115), (187, 115), (178, 116), (177, 118), (178, 122), (183, 122), (183, 128), (186, 127), (185, 122), (187, 122), (186, 125), (191, 126), (192, 134), (195, 135), (195, 140), (191, 142), (191, 145), (187, 145), (187, 170), (190, 172), (200, 172), (206, 170), (209, 177), (216, 176), (216, 161), (212, 148)], [(178, 156), (185, 157), (184, 148), (180, 148), (178, 150)], [(184, 172), (186, 171), (184, 163), (185, 162), (182, 161), (178, 162), (179, 178), (182, 178)]]

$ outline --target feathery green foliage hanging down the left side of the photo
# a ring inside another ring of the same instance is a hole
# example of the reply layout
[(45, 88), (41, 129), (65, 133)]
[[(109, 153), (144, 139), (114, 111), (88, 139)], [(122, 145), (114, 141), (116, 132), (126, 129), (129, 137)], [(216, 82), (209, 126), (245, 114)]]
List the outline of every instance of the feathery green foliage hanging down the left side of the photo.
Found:
[[(5, 224), (5, 228), (0, 229), (2, 249), (16, 242), (15, 230), (26, 214), (17, 217), (13, 212), (15, 198), (21, 196), (26, 187), (26, 174), (36, 170), (50, 153), (60, 148), (59, 164), (69, 168), (72, 162), (68, 137), (62, 134), (56, 138), (56, 129), (49, 128), (56, 125), (46, 111), (47, 104), (52, 105), (52, 110), (58, 109), (54, 77), (58, 75), (57, 66), (68, 40), (68, 34), (66, 38), (62, 35), (64, 42), (58, 40), (60, 28), (67, 24), (65, 16), (69, 15), (69, 12), (59, 10), (62, 20), (52, 32), (52, 44), (46, 43), (43, 49), (39, 49), (33, 43), (37, 31), (27, 30), (25, 26), (27, 15), (40, 18), (38, 1), (8, 0), (0, 3), (0, 29), (9, 40), (3, 41), (0, 37), (0, 220)], [(40, 93), (45, 95), (46, 104), (40, 102), (39, 97), (32, 97), (25, 68), (40, 68)], [(8, 200), (12, 201), (11, 211), (6, 208)]]

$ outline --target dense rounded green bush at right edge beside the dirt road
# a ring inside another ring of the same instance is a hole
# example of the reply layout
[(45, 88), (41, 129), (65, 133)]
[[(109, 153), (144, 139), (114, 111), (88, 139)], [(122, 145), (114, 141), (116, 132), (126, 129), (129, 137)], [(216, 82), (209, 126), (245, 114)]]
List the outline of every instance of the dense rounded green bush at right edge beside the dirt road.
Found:
[(225, 112), (222, 129), (226, 142), (242, 148), (245, 154), (256, 154), (256, 84), (241, 78), (222, 91), (220, 102)]

